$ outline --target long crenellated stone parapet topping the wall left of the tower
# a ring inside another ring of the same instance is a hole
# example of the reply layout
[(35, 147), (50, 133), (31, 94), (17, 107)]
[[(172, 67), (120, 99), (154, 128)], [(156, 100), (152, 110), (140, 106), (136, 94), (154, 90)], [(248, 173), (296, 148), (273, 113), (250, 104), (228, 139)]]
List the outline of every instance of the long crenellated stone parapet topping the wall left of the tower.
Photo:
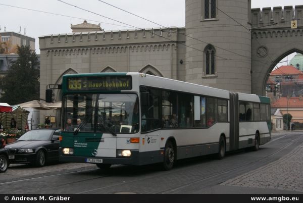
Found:
[[(185, 41), (185, 28), (148, 28), (143, 30), (111, 30), (96, 32), (78, 32), (70, 34), (52, 34), (39, 37), (40, 49), (102, 46), (116, 44), (167, 43)], [(44, 40), (42, 40), (44, 39)], [(181, 40), (180, 40), (181, 39)], [(183, 40), (182, 40), (183, 39)]]

